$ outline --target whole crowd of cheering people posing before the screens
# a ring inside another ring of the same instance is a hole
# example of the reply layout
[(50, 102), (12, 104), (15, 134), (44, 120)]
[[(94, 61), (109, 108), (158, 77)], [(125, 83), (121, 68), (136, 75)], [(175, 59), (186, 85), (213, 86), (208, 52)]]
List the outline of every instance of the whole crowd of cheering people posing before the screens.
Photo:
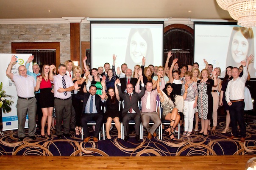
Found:
[[(198, 70), (198, 63), (193, 65), (178, 65), (178, 59), (168, 67), (172, 53), (168, 52), (165, 67), (148, 65), (142, 58), (142, 65), (135, 65), (134, 71), (124, 63), (115, 69), (117, 56), (113, 54), (112, 68), (109, 63), (103, 67), (92, 68), (86, 65), (87, 57), (83, 58), (83, 66), (75, 66), (71, 60), (58, 66), (43, 65), (42, 73), (39, 66), (33, 65), (33, 73), (28, 71), (33, 56), (28, 58), (26, 66), (19, 66), (19, 75), (11, 73), (12, 65), (17, 62), (13, 55), (6, 70), (6, 75), (16, 84), (18, 101), (18, 136), (19, 141), (25, 138), (25, 117), (28, 112), (28, 135), (36, 139), (36, 113), (41, 128), (41, 138), (51, 136), (51, 129), (56, 129), (58, 138), (70, 136), (70, 130), (76, 135), (83, 135), (84, 142), (91, 139), (87, 123), (96, 121), (93, 128), (93, 141), (98, 141), (102, 123), (106, 121), (106, 137), (111, 139), (110, 129), (114, 121), (121, 139), (121, 123), (124, 126), (124, 140), (129, 140), (129, 121), (135, 122), (136, 140), (140, 141), (140, 124), (147, 130), (147, 138), (156, 137), (156, 129), (161, 119), (170, 121), (170, 126), (164, 130), (171, 140), (176, 140), (174, 134), (178, 123), (183, 120), (183, 135), (189, 136), (194, 127), (198, 131), (198, 121), (201, 120), (199, 135), (207, 136), (208, 130), (217, 127), (218, 105), (224, 105), (227, 111), (226, 128), (229, 131), (231, 121), (232, 136), (237, 139), (237, 123), (241, 129), (240, 141), (245, 141), (244, 89), (248, 78), (247, 66), (253, 58), (241, 61), (242, 73), (237, 67), (227, 67), (223, 82), (219, 76), (219, 67), (213, 69), (211, 64)], [(82, 71), (84, 73), (82, 74)], [(239, 77), (240, 76), (240, 77)], [(220, 93), (220, 100), (219, 100)], [(156, 101), (161, 102), (161, 111), (156, 108)], [(121, 107), (120, 107), (121, 106)], [(36, 109), (37, 108), (37, 109)], [(103, 109), (105, 108), (105, 109)], [(40, 110), (42, 111), (40, 113)], [(53, 111), (54, 110), (54, 111)], [(162, 114), (159, 115), (159, 112)], [(53, 116), (55, 113), (56, 116)], [(40, 114), (42, 114), (40, 116)], [(161, 118), (160, 118), (161, 116)], [(54, 119), (56, 118), (56, 126)], [(153, 125), (150, 126), (150, 120)], [(213, 127), (210, 127), (212, 120)], [(47, 131), (45, 125), (47, 122)], [(83, 134), (82, 134), (83, 129)]]

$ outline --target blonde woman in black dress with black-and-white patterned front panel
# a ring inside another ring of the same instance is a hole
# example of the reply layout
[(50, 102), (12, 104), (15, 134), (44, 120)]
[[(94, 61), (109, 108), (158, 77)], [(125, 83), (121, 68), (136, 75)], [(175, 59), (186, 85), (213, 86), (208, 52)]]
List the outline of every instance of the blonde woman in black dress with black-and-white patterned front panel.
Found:
[(213, 98), (211, 95), (212, 86), (217, 86), (216, 78), (217, 70), (214, 69), (211, 73), (214, 79), (211, 79), (207, 69), (201, 71), (201, 80), (198, 80), (198, 116), (201, 119), (201, 131), (199, 135), (208, 135), (209, 120), (212, 119)]

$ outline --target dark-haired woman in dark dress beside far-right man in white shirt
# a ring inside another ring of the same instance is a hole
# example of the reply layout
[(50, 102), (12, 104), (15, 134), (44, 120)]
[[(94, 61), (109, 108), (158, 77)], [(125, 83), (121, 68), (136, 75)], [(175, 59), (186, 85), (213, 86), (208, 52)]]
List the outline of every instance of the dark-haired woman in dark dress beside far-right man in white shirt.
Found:
[(232, 69), (233, 69), (232, 66), (228, 66), (226, 68), (225, 77), (222, 81), (222, 87), (221, 87), (221, 91), (220, 91), (220, 105), (224, 106), (224, 109), (227, 113), (227, 115), (226, 115), (226, 127), (221, 133), (229, 132), (230, 115), (229, 115), (229, 105), (226, 101), (225, 92), (226, 92), (226, 89), (227, 89), (227, 86), (228, 86), (228, 81), (230, 81), (233, 78), (232, 77)]

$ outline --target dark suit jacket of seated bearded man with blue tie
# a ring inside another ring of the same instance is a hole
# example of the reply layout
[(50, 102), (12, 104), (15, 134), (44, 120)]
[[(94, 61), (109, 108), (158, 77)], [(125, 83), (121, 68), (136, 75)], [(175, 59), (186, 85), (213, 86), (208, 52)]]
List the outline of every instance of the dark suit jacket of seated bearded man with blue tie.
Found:
[[(85, 111), (86, 103), (88, 102), (88, 99), (90, 97), (90, 93), (83, 93), (83, 94), (78, 94), (77, 93), (74, 96), (76, 98), (78, 98), (79, 100), (83, 100), (83, 111), (82, 111), (82, 114), (83, 114), (84, 111)], [(101, 110), (101, 106), (103, 107), (104, 103), (105, 102), (101, 101), (100, 96), (98, 94), (95, 94), (95, 105), (96, 105), (97, 113), (103, 114), (103, 111)]]

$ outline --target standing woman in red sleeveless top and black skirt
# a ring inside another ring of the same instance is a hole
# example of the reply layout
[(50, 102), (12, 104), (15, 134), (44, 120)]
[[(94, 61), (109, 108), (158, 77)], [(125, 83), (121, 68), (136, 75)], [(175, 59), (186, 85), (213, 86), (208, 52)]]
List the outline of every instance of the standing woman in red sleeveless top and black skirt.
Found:
[(49, 79), (50, 66), (44, 65), (42, 74), (36, 78), (36, 91), (40, 89), (39, 101), (43, 112), (41, 121), (41, 138), (45, 138), (45, 124), (47, 121), (47, 136), (51, 137), (51, 124), (53, 119), (54, 96), (52, 84)]

